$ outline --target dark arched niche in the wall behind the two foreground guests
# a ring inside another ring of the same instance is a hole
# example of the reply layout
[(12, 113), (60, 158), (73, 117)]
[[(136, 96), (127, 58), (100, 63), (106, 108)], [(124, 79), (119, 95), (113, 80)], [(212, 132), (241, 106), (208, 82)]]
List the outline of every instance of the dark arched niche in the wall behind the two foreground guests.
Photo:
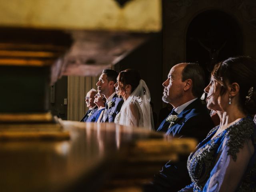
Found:
[(238, 55), (242, 55), (242, 32), (232, 16), (208, 10), (192, 20), (186, 34), (186, 60), (198, 62), (206, 78), (214, 64)]

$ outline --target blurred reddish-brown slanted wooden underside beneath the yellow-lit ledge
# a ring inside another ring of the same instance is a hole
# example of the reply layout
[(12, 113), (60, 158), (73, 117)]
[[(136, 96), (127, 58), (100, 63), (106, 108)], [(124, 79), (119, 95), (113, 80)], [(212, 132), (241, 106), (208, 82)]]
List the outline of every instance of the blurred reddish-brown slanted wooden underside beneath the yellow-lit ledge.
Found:
[(71, 32), (74, 42), (63, 60), (62, 74), (66, 76), (97, 76), (116, 64), (152, 34), (106, 31)]

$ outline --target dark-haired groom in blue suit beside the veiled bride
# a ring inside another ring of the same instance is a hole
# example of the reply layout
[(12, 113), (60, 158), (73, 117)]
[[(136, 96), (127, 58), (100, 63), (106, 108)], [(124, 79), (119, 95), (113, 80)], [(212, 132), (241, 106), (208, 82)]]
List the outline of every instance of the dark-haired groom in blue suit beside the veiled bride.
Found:
[(104, 110), (103, 118), (101, 122), (114, 122), (116, 114), (121, 110), (124, 103), (122, 98), (118, 98), (114, 84), (118, 72), (112, 69), (105, 69), (100, 75), (99, 81), (96, 83), (98, 86), (98, 92), (103, 94), (106, 101), (106, 109)]

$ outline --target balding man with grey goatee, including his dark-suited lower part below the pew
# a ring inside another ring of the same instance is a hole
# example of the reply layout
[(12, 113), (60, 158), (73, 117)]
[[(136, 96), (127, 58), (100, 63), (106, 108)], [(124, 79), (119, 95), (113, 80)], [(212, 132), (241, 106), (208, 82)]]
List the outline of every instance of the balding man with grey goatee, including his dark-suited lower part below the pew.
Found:
[[(204, 71), (198, 64), (180, 63), (173, 66), (163, 83), (162, 100), (174, 109), (160, 124), (157, 131), (167, 135), (194, 137), (202, 141), (214, 127), (210, 114), (200, 101), (204, 90)], [(167, 162), (154, 176), (152, 183), (145, 185), (146, 192), (178, 191), (189, 184), (186, 168), (187, 156), (178, 163)]]

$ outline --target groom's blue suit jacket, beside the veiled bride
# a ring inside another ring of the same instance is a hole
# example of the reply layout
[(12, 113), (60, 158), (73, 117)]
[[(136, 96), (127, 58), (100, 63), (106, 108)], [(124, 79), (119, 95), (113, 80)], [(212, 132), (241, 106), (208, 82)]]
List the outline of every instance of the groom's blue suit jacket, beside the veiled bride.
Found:
[(116, 114), (118, 114), (121, 110), (121, 107), (124, 103), (124, 100), (122, 98), (119, 98), (117, 94), (114, 95), (114, 97), (111, 100), (113, 102), (113, 106), (108, 107), (108, 104), (106, 104), (106, 116), (102, 118), (102, 122), (114, 122)]

